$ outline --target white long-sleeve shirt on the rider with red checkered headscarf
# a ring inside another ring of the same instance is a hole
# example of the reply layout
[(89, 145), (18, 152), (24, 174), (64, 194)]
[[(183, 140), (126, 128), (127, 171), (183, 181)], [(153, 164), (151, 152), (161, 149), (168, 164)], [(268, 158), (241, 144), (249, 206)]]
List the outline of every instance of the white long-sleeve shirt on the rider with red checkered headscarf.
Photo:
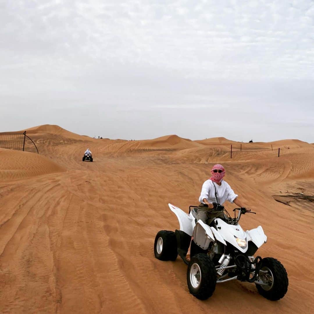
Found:
[(216, 187), (217, 199), (220, 205), (226, 200), (233, 203), (234, 199), (238, 197), (226, 181), (222, 180), (221, 185), (218, 185), (208, 179), (203, 183), (201, 195), (198, 199), (199, 202), (204, 204), (203, 199), (206, 198), (209, 203), (217, 203), (214, 185)]

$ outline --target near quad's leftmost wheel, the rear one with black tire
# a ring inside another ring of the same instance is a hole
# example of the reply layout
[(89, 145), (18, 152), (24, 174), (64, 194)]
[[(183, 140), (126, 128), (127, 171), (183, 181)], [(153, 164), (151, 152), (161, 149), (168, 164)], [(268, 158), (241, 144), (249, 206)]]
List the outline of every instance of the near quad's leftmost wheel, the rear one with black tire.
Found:
[(178, 256), (176, 234), (168, 230), (159, 231), (155, 237), (154, 253), (160, 261), (175, 261)]

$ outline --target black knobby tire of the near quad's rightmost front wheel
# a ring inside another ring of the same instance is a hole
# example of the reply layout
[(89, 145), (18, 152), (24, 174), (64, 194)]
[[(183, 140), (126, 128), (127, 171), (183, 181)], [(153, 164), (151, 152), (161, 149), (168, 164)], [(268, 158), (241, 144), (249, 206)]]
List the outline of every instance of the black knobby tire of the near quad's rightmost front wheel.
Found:
[(256, 284), (259, 294), (271, 301), (277, 301), (283, 298), (287, 293), (289, 285), (288, 274), (284, 266), (272, 257), (265, 257), (262, 260), (261, 270), (270, 270), (273, 274), (273, 279), (272, 284), (268, 286)]

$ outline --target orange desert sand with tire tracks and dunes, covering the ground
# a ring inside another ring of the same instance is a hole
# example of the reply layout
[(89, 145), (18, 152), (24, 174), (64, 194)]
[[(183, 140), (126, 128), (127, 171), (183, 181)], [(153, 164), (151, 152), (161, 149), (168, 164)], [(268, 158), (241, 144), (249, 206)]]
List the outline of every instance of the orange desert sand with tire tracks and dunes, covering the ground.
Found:
[[(93, 139), (56, 125), (27, 135), (39, 155), (31, 146), (26, 152), (0, 149), (1, 313), (313, 311), (314, 203), (273, 199), (314, 195), (313, 144), (177, 135)], [(82, 162), (87, 147), (93, 163)], [(154, 257), (156, 233), (179, 229), (167, 204), (186, 212), (197, 205), (215, 163), (224, 165), (225, 180), (257, 212), (240, 224), (245, 230), (262, 225), (268, 241), (258, 255), (277, 258), (287, 270), (288, 292), (279, 301), (238, 281), (217, 284), (211, 298), (197, 300), (181, 258)]]

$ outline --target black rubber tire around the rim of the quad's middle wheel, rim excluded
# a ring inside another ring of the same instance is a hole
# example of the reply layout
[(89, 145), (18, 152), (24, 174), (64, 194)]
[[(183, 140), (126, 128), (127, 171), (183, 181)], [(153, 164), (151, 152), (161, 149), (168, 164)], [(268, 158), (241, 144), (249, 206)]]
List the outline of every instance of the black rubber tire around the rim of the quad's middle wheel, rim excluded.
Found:
[[(200, 286), (195, 289), (190, 283), (191, 266), (197, 263), (201, 268), (202, 278)], [(199, 300), (206, 300), (213, 295), (216, 288), (217, 273), (215, 265), (207, 254), (199, 253), (191, 258), (191, 262), (187, 267), (187, 286), (192, 295)]]

